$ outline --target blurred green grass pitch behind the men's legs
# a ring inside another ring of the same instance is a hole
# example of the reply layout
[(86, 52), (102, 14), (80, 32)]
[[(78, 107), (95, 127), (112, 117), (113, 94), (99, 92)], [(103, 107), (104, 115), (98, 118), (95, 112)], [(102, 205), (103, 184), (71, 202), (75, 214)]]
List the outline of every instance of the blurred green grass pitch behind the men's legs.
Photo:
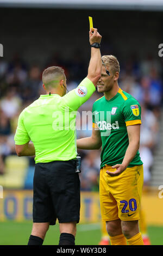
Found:
[[(0, 245), (27, 245), (31, 222), (17, 223), (14, 221), (0, 223)], [(148, 234), (152, 245), (163, 245), (163, 227), (148, 227)], [(98, 245), (101, 240), (100, 224), (78, 224), (76, 245)], [(58, 245), (59, 226), (50, 226), (44, 245)]]

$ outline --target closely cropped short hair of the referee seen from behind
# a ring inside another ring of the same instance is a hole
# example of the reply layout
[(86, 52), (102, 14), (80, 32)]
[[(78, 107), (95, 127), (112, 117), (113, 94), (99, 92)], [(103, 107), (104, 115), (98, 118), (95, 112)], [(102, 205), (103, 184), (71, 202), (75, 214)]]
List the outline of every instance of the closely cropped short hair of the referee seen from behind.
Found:
[(57, 87), (59, 81), (65, 80), (65, 71), (60, 66), (49, 66), (42, 73), (42, 82), (45, 87)]

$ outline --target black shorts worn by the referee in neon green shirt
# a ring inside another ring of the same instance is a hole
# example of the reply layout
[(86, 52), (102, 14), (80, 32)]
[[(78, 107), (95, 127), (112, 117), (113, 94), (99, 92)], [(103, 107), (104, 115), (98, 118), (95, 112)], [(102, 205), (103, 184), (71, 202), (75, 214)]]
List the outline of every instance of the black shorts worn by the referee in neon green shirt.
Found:
[(75, 161), (36, 163), (33, 222), (79, 222), (80, 180)]

